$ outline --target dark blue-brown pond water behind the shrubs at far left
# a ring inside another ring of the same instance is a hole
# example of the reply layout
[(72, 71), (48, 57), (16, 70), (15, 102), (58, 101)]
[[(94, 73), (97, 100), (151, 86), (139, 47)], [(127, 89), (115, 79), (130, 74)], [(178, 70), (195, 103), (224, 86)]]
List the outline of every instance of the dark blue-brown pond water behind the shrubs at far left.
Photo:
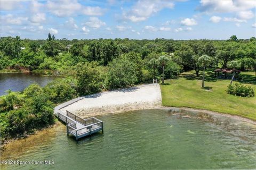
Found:
[(0, 73), (0, 96), (4, 95), (5, 91), (9, 89), (22, 91), (34, 82), (43, 87), (55, 78), (54, 76), (33, 75), (30, 73)]

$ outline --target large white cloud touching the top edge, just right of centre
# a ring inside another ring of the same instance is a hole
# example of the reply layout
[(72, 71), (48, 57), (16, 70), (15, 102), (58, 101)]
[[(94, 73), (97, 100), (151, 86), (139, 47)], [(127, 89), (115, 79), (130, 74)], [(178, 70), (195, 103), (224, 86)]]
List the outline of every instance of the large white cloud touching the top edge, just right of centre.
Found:
[(123, 12), (123, 19), (132, 22), (145, 21), (163, 8), (173, 8), (173, 6), (173, 2), (170, 1), (138, 1), (130, 11)]

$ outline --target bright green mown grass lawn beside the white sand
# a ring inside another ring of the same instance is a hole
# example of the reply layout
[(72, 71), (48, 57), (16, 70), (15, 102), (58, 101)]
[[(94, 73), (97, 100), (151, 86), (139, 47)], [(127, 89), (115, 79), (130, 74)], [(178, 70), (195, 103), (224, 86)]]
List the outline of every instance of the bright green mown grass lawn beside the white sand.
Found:
[[(165, 80), (161, 85), (163, 106), (207, 109), (256, 120), (256, 96), (247, 98), (226, 94), (230, 80), (215, 79), (211, 70), (206, 72), (205, 78), (205, 88), (201, 88), (202, 77), (197, 78), (195, 71)], [(239, 78), (238, 82), (252, 86), (256, 93), (254, 72), (242, 72)]]

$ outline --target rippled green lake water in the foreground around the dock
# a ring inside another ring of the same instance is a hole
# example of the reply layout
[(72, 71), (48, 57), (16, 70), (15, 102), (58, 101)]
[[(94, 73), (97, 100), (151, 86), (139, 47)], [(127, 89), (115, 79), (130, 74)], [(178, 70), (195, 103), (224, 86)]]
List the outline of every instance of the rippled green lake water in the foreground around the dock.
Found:
[[(255, 169), (256, 126), (224, 116), (164, 109), (98, 116), (104, 133), (79, 140), (61, 128), (18, 160), (54, 165), (5, 169)], [(63, 125), (64, 126), (64, 125)], [(15, 154), (11, 155), (12, 159)]]

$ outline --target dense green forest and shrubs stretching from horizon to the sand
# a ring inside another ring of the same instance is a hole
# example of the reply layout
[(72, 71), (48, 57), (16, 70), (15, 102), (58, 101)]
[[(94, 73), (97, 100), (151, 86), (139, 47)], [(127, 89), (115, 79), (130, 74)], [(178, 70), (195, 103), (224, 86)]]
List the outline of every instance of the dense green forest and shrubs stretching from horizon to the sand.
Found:
[[(102, 90), (171, 79), (183, 71), (207, 66), (254, 70), (256, 38), (228, 40), (55, 39), (2, 37), (0, 72), (29, 71), (61, 75), (46, 87), (31, 84), (22, 92), (0, 97), (2, 137), (16, 137), (54, 121), (54, 104)], [(234, 64), (236, 63), (236, 64)]]

